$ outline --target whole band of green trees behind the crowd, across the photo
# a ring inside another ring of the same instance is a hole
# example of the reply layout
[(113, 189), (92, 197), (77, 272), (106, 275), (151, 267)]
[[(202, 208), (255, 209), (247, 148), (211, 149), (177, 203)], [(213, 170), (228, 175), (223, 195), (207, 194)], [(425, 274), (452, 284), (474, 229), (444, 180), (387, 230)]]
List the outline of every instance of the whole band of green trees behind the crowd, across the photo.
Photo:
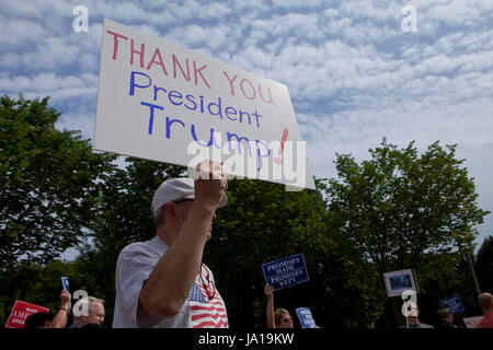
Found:
[[(115, 166), (78, 132), (55, 129), (59, 113), (48, 98), (2, 97), (0, 117), (1, 322), (15, 300), (56, 307), (61, 276), (71, 291), (104, 299), (110, 314), (119, 252), (154, 235), (153, 194), (185, 170), (135, 159)], [(399, 301), (389, 302), (382, 273), (406, 268), (417, 275), (422, 320), (436, 320), (439, 301), (455, 293), (461, 316), (477, 315), (462, 253), (489, 212), (455, 150), (435, 142), (419, 154), (413, 142), (398, 149), (383, 140), (359, 164), (337, 154), (337, 178), (316, 179), (317, 190), (231, 179), (204, 255), (231, 327), (265, 327), (262, 264), (297, 253), (310, 280), (275, 292), (275, 307), (293, 315), (310, 307), (323, 328), (394, 327)], [(76, 260), (56, 259), (71, 246), (81, 252)], [(482, 285), (491, 281), (491, 246), (478, 255)]]

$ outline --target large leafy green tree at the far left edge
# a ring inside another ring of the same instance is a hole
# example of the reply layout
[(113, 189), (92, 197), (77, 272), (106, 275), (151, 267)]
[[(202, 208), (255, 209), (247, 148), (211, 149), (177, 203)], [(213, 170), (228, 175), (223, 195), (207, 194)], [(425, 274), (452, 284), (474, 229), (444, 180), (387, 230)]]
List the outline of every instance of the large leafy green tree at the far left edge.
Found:
[(0, 100), (0, 266), (46, 264), (87, 235), (112, 155), (94, 153), (42, 101)]

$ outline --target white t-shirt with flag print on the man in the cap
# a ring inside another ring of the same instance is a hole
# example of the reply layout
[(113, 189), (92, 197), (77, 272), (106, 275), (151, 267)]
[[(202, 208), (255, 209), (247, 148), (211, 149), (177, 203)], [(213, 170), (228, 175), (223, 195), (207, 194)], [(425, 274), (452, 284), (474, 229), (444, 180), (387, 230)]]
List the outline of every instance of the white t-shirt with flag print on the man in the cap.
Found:
[(213, 272), (203, 265), (181, 311), (165, 318), (147, 314), (138, 307), (140, 290), (168, 245), (154, 236), (126, 246), (116, 262), (114, 328), (192, 328), (228, 327), (226, 306), (216, 290)]

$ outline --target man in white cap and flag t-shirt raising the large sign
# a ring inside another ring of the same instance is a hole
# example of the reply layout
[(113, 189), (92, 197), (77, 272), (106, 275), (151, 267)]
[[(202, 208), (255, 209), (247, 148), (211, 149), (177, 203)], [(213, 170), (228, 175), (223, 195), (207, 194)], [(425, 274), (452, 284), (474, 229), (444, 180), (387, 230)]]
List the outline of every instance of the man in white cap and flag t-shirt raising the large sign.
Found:
[(219, 163), (204, 161), (196, 171), (195, 180), (168, 179), (158, 188), (156, 237), (122, 250), (113, 327), (228, 327), (225, 302), (202, 262), (228, 182)]

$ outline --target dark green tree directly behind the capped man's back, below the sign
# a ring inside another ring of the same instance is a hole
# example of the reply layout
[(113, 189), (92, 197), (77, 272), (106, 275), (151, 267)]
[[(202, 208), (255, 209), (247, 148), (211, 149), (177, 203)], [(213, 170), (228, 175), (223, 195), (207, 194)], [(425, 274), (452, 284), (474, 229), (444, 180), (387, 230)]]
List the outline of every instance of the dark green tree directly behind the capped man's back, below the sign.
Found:
[(150, 205), (156, 189), (169, 177), (184, 176), (185, 168), (126, 158), (124, 165), (101, 184), (98, 212), (88, 223), (91, 244), (78, 261), (93, 295), (105, 300), (111, 312), (115, 301), (115, 268), (119, 252), (130, 243), (154, 236)]

